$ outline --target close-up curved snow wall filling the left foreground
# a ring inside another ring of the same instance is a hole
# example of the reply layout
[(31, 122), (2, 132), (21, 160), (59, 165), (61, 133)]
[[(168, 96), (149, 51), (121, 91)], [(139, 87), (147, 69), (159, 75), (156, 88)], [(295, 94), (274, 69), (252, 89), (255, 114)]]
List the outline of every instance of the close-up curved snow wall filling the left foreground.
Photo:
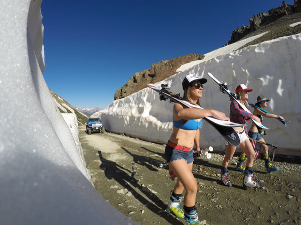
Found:
[(93, 187), (45, 83), (41, 3), (0, 1), (0, 221), (133, 224)]

